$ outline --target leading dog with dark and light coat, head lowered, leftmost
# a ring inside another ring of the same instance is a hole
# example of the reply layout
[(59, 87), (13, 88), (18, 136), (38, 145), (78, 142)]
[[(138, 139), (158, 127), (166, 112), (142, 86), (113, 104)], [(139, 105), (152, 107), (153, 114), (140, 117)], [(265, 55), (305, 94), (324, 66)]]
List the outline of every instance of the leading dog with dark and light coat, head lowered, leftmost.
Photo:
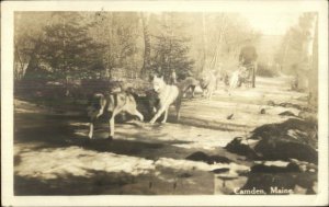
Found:
[(114, 136), (114, 119), (117, 114), (127, 112), (131, 115), (137, 116), (140, 120), (144, 120), (144, 116), (137, 111), (137, 104), (133, 94), (125, 91), (105, 95), (95, 93), (91, 100), (91, 105), (88, 107), (88, 116), (90, 117), (89, 138), (93, 137), (94, 123), (104, 112), (110, 114), (110, 139)]

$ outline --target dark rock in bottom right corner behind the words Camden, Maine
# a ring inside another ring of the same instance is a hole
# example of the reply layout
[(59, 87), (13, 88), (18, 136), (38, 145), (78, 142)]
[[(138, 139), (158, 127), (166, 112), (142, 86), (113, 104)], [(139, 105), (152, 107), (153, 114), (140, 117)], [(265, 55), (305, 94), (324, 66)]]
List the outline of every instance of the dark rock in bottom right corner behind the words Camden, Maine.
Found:
[(235, 191), (239, 194), (251, 189), (272, 195), (317, 193), (317, 168), (305, 161), (254, 161), (245, 175), (246, 183)]

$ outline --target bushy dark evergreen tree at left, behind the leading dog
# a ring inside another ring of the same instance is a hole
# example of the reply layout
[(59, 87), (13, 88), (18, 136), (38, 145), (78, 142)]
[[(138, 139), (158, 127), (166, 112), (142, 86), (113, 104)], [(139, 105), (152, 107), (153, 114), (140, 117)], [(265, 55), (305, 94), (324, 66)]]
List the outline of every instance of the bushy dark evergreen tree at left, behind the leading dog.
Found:
[(42, 58), (56, 79), (98, 77), (104, 69), (104, 46), (88, 36), (79, 13), (54, 12), (44, 31)]

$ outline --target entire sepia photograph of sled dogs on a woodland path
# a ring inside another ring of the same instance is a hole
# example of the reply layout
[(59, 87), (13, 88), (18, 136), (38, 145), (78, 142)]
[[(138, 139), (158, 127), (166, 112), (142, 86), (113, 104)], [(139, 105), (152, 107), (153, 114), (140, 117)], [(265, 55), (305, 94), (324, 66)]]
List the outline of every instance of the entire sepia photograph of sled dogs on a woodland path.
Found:
[(322, 13), (170, 8), (12, 10), (13, 197), (322, 192)]

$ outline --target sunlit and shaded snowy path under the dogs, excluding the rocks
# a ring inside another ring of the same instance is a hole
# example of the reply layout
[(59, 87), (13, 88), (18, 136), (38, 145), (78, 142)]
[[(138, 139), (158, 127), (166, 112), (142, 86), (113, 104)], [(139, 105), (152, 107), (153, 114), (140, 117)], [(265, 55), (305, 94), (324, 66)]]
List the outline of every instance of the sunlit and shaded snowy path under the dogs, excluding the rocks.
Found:
[[(284, 79), (259, 79), (257, 89), (239, 89), (230, 95), (218, 90), (212, 101), (186, 100), (179, 123), (170, 117), (163, 125), (117, 124), (113, 141), (104, 139), (106, 123), (98, 125), (97, 139), (90, 141), (83, 117), (16, 101), (15, 194), (226, 194), (230, 186), (247, 182), (237, 174), (247, 172), (253, 161), (224, 147), (254, 127), (285, 120), (281, 112), (298, 113), (266, 105), (269, 101), (305, 104), (300, 101), (305, 94), (287, 91), (284, 83)], [(260, 114), (261, 108), (265, 114)], [(229, 162), (186, 160), (197, 151)], [(228, 171), (237, 179), (223, 184), (225, 179), (214, 170)]]

